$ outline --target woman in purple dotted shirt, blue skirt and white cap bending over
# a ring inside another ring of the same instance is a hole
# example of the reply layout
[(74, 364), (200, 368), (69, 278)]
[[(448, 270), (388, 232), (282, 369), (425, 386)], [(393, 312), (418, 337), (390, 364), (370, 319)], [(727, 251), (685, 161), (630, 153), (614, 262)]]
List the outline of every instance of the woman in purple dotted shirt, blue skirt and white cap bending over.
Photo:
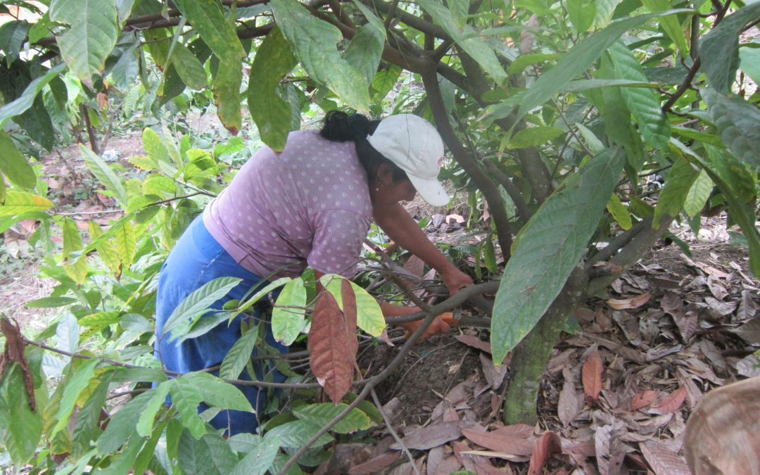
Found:
[[(216, 277), (242, 278), (212, 306), (221, 309), (261, 280), (297, 277), (307, 265), (317, 277), (332, 273), (351, 278), (372, 219), (398, 245), (439, 271), (451, 293), (471, 285), (470, 277), (432, 245), (400, 204), (418, 192), (435, 206), (448, 202), (436, 178), (443, 153), (438, 132), (420, 117), (402, 114), (369, 121), (337, 111), (328, 113), (321, 131), (292, 132), (279, 154), (269, 147), (259, 150), (188, 227), (161, 269), (155, 347), (166, 369), (189, 372), (216, 366), (240, 336), (242, 317), (182, 344), (164, 335), (163, 324), (193, 290)], [(388, 303), (381, 308), (386, 317), (419, 311)], [(402, 326), (414, 330), (419, 325)], [(424, 336), (448, 329), (436, 318)], [(287, 351), (271, 332), (266, 341)], [(282, 381), (275, 373), (275, 381)], [(263, 394), (257, 388), (240, 389), (253, 407), (261, 407)], [(255, 414), (226, 411), (211, 425), (234, 435), (253, 432), (257, 420)]]

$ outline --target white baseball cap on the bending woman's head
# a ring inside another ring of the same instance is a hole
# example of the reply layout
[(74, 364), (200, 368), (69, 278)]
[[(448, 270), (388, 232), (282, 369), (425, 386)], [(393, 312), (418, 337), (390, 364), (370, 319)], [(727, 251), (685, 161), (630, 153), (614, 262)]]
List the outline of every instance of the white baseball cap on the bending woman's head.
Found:
[(367, 141), (407, 173), (423, 200), (433, 206), (448, 203), (439, 169), (443, 161), (443, 141), (430, 122), (413, 114), (388, 116), (380, 121)]

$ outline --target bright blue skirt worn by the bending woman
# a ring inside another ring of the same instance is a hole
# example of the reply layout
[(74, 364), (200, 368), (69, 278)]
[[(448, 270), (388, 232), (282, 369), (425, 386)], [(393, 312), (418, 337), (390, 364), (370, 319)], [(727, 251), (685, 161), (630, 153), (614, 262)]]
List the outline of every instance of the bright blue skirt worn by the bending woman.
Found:
[[(217, 277), (239, 277), (242, 279), (233, 290), (222, 299), (211, 305), (212, 309), (222, 309), (225, 302), (233, 299), (243, 299), (252, 287), (264, 287), (266, 281), (258, 275), (243, 268), (235, 259), (226, 252), (221, 245), (211, 236), (198, 216), (179, 238), (176, 245), (169, 252), (158, 278), (158, 290), (156, 296), (156, 343), (154, 348), (156, 356), (166, 369), (177, 372), (191, 372), (217, 366), (222, 363), (224, 356), (233, 347), (240, 337), (240, 322), (242, 318), (258, 318), (261, 307), (267, 306), (267, 302), (255, 306), (252, 315), (238, 315), (231, 325), (226, 321), (217, 325), (211, 331), (197, 338), (192, 338), (177, 344), (172, 340), (171, 334), (163, 335), (163, 325), (172, 315), (176, 306), (182, 302), (193, 290), (197, 290)], [(266, 324), (265, 341), (279, 353), (286, 353), (287, 347), (274, 340), (270, 325)], [(253, 354), (256, 354), (254, 350)], [(265, 372), (271, 372), (271, 381), (283, 382), (285, 376), (274, 369), (271, 364), (254, 362), (256, 378), (264, 380)], [(214, 372), (218, 375), (219, 372)], [(240, 375), (241, 379), (249, 379), (247, 371)], [(266, 400), (266, 390), (259, 390), (255, 386), (238, 386), (245, 397), (251, 401), (254, 409), (263, 410)], [(198, 407), (199, 412), (207, 409), (205, 404)], [(217, 429), (227, 429), (227, 435), (235, 435), (240, 432), (255, 432), (258, 426), (256, 414), (236, 410), (223, 410), (210, 421)]]

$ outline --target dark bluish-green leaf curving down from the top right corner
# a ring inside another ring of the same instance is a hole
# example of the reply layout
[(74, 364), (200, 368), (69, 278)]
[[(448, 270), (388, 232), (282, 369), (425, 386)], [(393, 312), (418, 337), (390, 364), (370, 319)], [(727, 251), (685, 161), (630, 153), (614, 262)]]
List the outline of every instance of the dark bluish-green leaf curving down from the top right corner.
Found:
[(724, 17), (699, 42), (699, 56), (708, 82), (719, 93), (730, 93), (739, 68), (739, 35), (747, 24), (760, 19), (760, 3), (755, 2)]

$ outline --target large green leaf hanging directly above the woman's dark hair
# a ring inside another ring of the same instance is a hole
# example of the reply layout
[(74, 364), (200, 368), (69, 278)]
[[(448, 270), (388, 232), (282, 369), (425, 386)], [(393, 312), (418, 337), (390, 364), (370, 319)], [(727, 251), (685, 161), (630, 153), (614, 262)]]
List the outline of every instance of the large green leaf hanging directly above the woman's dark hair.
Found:
[(329, 87), (348, 106), (367, 112), (368, 84), (362, 73), (338, 52), (340, 30), (314, 17), (297, 0), (272, 0), (271, 5), (277, 26), (309, 75)]

